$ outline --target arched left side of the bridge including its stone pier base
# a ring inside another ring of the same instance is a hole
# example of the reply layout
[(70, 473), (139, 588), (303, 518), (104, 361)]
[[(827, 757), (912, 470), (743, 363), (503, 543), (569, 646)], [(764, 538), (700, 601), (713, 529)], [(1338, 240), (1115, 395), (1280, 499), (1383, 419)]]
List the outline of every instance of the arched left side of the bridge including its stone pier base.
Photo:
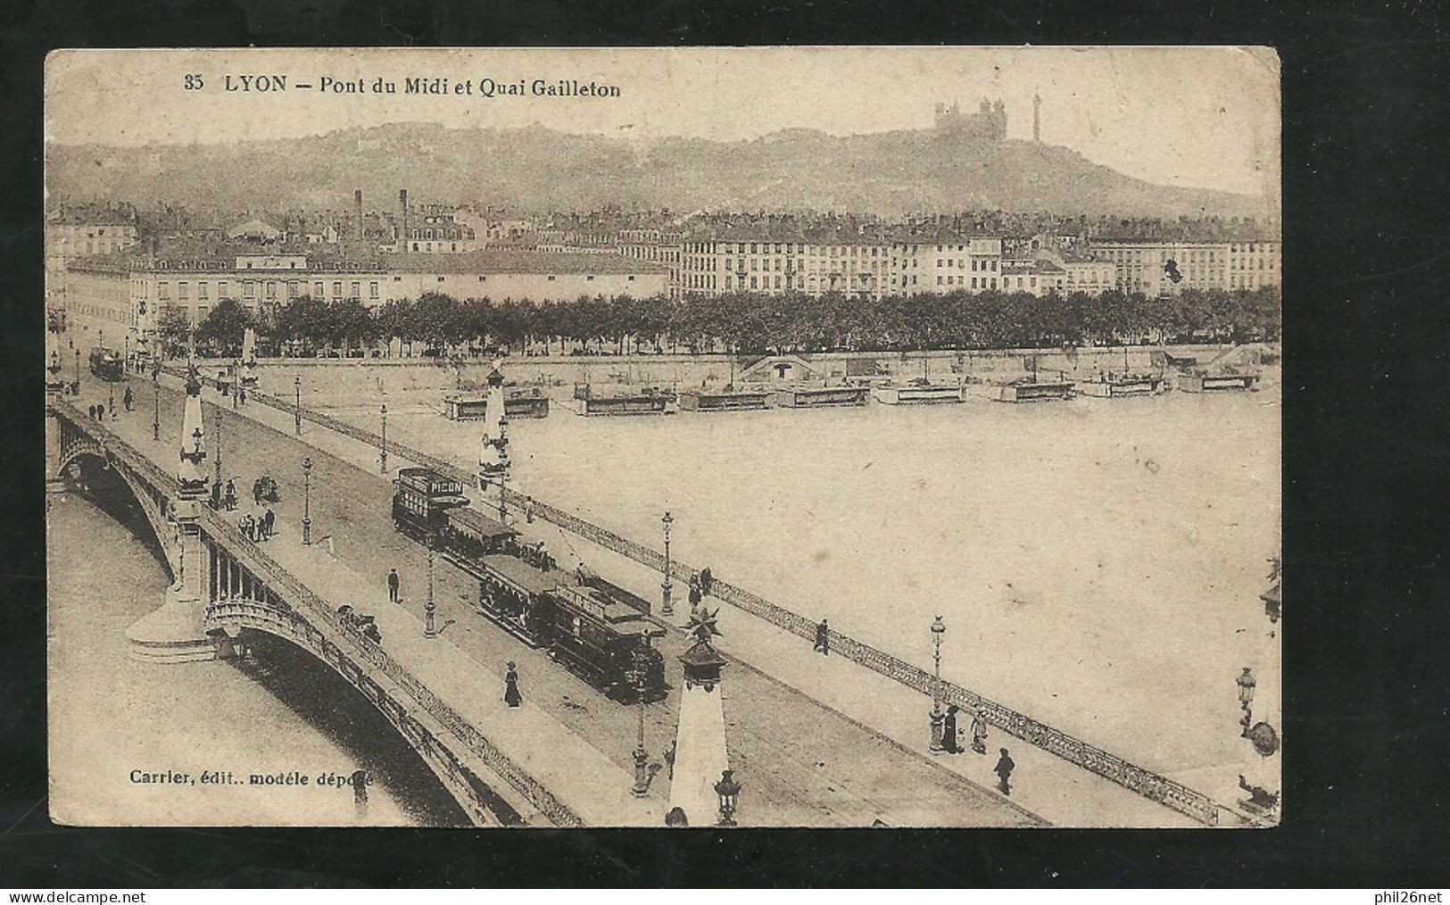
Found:
[(135, 496), (173, 583), (161, 608), (128, 629), (133, 657), (184, 663), (238, 656), (248, 632), (307, 651), (358, 689), (418, 751), (477, 825), (583, 821), (364, 637), (228, 519), (139, 450), (71, 405), (46, 396), (48, 484), (88, 468), (115, 471)]

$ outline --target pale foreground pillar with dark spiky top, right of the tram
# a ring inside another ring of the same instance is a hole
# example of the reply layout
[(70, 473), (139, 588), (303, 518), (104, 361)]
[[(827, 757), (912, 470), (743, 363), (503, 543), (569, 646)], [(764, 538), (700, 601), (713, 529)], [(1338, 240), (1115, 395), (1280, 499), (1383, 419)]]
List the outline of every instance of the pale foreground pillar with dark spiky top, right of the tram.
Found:
[[(716, 611), (719, 612), (719, 611)], [(715, 783), (729, 769), (725, 748), (725, 702), (721, 670), (725, 658), (710, 644), (718, 635), (715, 613), (703, 605), (690, 611), (695, 644), (680, 654), (684, 690), (680, 692), (680, 724), (674, 737), (674, 776), (670, 779), (670, 811), (684, 812), (690, 827), (719, 824), (719, 795)]]

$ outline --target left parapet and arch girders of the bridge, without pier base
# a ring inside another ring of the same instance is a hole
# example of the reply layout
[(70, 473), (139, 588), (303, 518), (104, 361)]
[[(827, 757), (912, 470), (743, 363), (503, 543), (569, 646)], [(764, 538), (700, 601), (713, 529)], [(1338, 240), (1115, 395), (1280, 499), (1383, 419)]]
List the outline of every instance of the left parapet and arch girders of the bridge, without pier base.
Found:
[[(113, 431), (70, 402), (51, 403), (55, 416), (84, 431), (112, 467), (129, 470), (144, 486), (160, 489), (170, 511), (180, 497), (175, 479)], [(74, 454), (74, 450), (72, 452)], [(62, 455), (62, 461), (70, 455)], [(130, 480), (128, 479), (128, 483)], [(145, 500), (142, 500), (145, 505)], [(242, 628), (290, 641), (326, 663), (371, 702), (418, 751), (444, 788), (477, 825), (583, 825), (580, 817), (519, 767), (452, 706), (419, 682), (383, 647), (345, 625), (336, 608), (313, 593), (255, 542), (206, 505), (197, 506), (200, 538), (235, 582), (213, 586), (204, 625), (232, 634)], [(165, 547), (165, 538), (162, 538)], [(168, 558), (171, 558), (168, 551)], [(171, 566), (173, 571), (175, 566)], [(231, 592), (244, 590), (241, 596)], [(220, 595), (220, 596), (218, 596)], [(219, 647), (225, 644), (218, 640)]]

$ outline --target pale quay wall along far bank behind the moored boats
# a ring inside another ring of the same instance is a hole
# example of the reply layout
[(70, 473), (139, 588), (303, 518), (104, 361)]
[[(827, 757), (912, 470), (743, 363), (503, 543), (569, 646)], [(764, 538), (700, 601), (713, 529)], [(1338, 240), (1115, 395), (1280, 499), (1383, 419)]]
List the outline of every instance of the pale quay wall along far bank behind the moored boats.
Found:
[[(808, 363), (828, 383), (847, 379), (893, 379), (896, 381), (921, 377), (956, 381), (976, 377), (983, 381), (1011, 380), (1032, 371), (1069, 379), (1096, 377), (1103, 371), (1153, 370), (1153, 352), (1167, 352), (1174, 358), (1208, 361), (1232, 347), (1228, 345), (1167, 345), (1167, 347), (1093, 347), (1077, 351), (1063, 350), (993, 350), (993, 351), (918, 351), (918, 352), (825, 352), (793, 355)], [(510, 383), (557, 387), (568, 396), (576, 384), (589, 386), (719, 386), (731, 380), (742, 383), (741, 371), (760, 357), (709, 355), (554, 355), (509, 357), (500, 368)], [(310, 405), (348, 405), (358, 397), (389, 394), (442, 394), (460, 389), (478, 389), (493, 370), (489, 358), (261, 358), (257, 370), (268, 386), (291, 386), (302, 380)], [(203, 363), (203, 367), (206, 365)], [(215, 367), (225, 367), (218, 361)], [(867, 371), (870, 376), (863, 376)]]

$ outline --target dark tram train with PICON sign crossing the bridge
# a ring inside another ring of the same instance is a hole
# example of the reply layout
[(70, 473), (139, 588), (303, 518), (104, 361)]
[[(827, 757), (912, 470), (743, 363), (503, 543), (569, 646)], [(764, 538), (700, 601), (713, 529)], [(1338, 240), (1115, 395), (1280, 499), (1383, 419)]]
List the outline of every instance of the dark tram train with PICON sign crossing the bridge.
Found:
[(644, 696), (666, 695), (664, 657), (650, 645), (664, 627), (650, 603), (584, 567), (558, 569), (542, 544), (468, 508), (463, 484), (432, 468), (400, 468), (393, 482), (393, 524), (426, 542), (478, 582), (478, 612), (550, 654), (616, 701), (638, 701), (628, 676), (645, 657)]

